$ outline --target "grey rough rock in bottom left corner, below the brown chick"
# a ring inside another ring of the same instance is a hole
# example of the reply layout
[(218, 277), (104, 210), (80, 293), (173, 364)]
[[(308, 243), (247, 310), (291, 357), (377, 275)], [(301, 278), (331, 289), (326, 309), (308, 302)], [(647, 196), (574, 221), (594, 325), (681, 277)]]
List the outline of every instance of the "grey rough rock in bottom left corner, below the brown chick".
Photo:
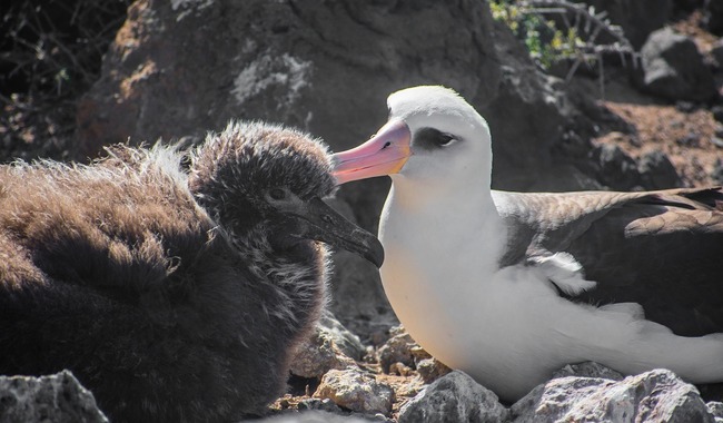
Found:
[(108, 422), (92, 393), (69, 371), (32, 376), (0, 376), (0, 423)]

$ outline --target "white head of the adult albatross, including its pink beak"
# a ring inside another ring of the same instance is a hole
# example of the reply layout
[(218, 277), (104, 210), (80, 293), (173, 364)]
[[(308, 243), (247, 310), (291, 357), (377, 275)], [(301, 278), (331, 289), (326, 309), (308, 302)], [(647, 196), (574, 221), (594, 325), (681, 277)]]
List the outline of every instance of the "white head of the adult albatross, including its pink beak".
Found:
[(390, 175), (395, 183), (423, 184), (427, 191), (489, 187), (489, 129), (459, 95), (420, 86), (394, 92), (387, 105), (387, 125), (364, 145), (334, 155), (339, 184)]

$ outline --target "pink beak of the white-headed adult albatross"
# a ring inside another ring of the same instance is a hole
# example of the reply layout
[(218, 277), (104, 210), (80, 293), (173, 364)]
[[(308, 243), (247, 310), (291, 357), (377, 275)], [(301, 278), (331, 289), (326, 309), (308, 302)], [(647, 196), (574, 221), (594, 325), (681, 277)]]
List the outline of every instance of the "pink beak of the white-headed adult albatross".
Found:
[(331, 156), (337, 185), (396, 174), (412, 156), (412, 131), (402, 120), (392, 120), (372, 139)]

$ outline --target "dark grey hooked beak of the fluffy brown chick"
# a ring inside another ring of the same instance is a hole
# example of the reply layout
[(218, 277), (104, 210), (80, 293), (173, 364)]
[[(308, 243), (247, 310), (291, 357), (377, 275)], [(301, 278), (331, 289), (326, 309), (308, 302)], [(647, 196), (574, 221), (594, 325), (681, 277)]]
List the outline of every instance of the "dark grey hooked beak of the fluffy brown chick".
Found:
[(315, 239), (347, 252), (356, 253), (382, 267), (384, 247), (379, 239), (339, 215), (320, 198), (280, 210), (285, 217), (288, 235)]

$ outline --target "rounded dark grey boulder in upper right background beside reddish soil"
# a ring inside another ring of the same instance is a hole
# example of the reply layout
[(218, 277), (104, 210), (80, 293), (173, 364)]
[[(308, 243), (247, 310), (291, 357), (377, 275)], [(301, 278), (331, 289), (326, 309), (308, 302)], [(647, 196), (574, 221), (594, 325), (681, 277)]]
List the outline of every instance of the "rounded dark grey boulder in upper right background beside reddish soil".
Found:
[(642, 88), (670, 100), (709, 101), (717, 96), (711, 70), (695, 42), (665, 28), (654, 31), (641, 50)]

